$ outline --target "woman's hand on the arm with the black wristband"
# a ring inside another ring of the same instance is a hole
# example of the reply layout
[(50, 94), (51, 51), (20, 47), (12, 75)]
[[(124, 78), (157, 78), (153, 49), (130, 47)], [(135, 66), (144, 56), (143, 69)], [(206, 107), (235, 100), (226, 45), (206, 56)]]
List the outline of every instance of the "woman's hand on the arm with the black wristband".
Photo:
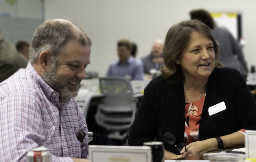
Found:
[(185, 151), (184, 147), (180, 152), (182, 154), (182, 157), (217, 151), (218, 142), (215, 138), (210, 138), (204, 141), (192, 142), (187, 145), (186, 148), (188, 151)]

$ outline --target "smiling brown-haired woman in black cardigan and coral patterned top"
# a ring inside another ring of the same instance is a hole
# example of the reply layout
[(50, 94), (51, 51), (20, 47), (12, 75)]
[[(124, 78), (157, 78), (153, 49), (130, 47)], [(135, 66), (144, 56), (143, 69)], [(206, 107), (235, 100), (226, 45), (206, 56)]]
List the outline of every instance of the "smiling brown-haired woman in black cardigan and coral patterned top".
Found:
[(240, 72), (221, 68), (219, 44), (197, 20), (167, 32), (162, 76), (144, 90), (129, 145), (162, 141), (166, 159), (244, 145), (256, 130), (256, 102)]

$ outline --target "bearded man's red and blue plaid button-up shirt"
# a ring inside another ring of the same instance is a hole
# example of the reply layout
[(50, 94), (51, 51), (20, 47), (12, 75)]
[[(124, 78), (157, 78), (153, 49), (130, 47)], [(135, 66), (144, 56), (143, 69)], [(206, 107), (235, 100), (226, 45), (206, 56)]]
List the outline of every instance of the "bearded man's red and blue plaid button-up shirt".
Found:
[[(83, 143), (78, 131), (86, 133)], [(75, 98), (60, 103), (28, 63), (0, 83), (0, 161), (27, 161), (26, 153), (48, 147), (52, 162), (87, 158), (88, 129)]]

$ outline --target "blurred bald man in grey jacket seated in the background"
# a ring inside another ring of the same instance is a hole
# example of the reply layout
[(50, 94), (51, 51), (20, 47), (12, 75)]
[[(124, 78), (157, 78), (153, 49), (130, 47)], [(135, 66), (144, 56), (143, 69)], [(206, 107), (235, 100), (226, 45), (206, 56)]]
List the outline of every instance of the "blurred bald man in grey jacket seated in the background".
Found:
[(150, 74), (150, 70), (160, 70), (160, 67), (164, 65), (163, 45), (164, 42), (162, 40), (155, 40), (151, 53), (141, 59), (144, 66), (144, 73)]

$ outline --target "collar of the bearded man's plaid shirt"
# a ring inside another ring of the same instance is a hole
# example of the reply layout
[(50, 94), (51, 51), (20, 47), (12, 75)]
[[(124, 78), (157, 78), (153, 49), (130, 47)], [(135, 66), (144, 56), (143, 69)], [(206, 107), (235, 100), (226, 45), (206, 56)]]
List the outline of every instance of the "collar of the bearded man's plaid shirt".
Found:
[(32, 64), (31, 64), (30, 62), (28, 63), (27, 69), (31, 72), (31, 74), (32, 74), (32, 79), (33, 79), (34, 81), (36, 81), (36, 82), (40, 85), (40, 87), (41, 87), (41, 89), (42, 89), (42, 91), (43, 91), (43, 93), (44, 93), (44, 95), (45, 95), (45, 97), (46, 97), (47, 99), (50, 99), (51, 96), (57, 97), (57, 98), (59, 99), (59, 93), (56, 92), (56, 91), (54, 91), (54, 90), (41, 78), (41, 76), (38, 74), (38, 72), (37, 72), (36, 69), (32, 66)]

